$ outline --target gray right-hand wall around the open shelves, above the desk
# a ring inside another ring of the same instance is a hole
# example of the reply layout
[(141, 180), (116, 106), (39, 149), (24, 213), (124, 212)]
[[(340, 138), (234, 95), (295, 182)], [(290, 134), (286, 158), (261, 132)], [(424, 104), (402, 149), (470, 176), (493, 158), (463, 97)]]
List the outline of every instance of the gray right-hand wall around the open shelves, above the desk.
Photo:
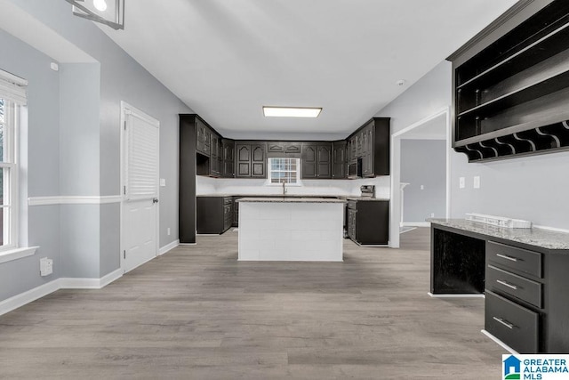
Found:
[[(450, 107), (451, 70), (450, 62), (442, 62), (376, 116), (391, 117), (395, 133)], [(450, 214), (455, 218), (469, 212), (497, 214), (569, 230), (568, 167), (569, 152), (468, 164), (466, 156), (452, 151)], [(480, 189), (473, 189), (475, 175), (481, 177)], [(466, 179), (465, 189), (459, 189), (461, 176)]]

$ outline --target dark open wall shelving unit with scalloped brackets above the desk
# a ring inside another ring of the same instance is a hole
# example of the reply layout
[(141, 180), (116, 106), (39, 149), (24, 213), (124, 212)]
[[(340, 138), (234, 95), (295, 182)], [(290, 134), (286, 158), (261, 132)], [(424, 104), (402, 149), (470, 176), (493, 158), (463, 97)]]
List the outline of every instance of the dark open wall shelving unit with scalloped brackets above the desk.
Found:
[(454, 67), (453, 148), (469, 161), (569, 149), (569, 1)]

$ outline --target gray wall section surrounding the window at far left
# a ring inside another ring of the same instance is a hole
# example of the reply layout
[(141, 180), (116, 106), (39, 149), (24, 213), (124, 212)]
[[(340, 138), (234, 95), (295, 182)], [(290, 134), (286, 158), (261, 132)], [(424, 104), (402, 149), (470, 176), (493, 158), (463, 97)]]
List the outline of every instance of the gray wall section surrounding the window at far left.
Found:
[[(20, 155), (25, 163), (20, 172), (20, 204), (29, 197), (60, 194), (60, 77), (50, 69), (52, 59), (0, 29), (0, 69), (28, 79), (28, 136), (27, 149)], [(33, 109), (33, 111), (32, 111)], [(36, 255), (0, 264), (0, 300), (25, 292), (60, 277), (60, 207), (29, 207), (20, 215), (20, 244), (41, 246)], [(21, 241), (26, 239), (27, 241)], [(53, 259), (54, 273), (41, 278), (39, 258)]]

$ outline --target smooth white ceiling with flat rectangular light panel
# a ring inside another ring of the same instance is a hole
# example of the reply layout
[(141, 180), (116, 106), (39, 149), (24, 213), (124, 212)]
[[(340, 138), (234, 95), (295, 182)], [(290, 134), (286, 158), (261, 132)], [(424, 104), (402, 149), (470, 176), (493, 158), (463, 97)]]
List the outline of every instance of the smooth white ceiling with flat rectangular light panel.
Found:
[[(514, 3), (136, 0), (124, 30), (101, 28), (228, 137), (347, 135)], [(324, 110), (267, 118), (263, 105)]]

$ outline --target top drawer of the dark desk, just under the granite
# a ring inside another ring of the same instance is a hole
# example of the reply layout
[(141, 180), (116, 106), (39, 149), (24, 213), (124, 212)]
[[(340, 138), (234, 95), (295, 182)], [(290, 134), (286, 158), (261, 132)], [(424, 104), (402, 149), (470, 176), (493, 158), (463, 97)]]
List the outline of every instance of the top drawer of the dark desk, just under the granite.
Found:
[(487, 241), (486, 259), (541, 279), (541, 254), (538, 252)]

